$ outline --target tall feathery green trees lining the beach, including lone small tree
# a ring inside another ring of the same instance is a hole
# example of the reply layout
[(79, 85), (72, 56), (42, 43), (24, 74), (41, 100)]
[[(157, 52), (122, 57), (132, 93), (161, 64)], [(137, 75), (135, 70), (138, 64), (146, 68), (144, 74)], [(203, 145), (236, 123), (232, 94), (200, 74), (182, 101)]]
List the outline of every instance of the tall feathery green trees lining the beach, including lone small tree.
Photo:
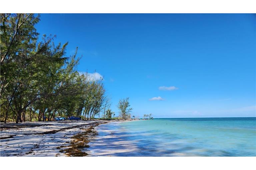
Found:
[[(76, 52), (66, 55), (68, 43), (54, 44), (55, 37), (42, 36), (34, 14), (1, 14), (1, 121), (45, 121), (57, 116), (94, 119), (99, 113), (111, 117), (110, 100), (103, 78), (79, 74)], [(76, 49), (77, 50), (77, 49)], [(130, 110), (124, 101), (122, 116)]]

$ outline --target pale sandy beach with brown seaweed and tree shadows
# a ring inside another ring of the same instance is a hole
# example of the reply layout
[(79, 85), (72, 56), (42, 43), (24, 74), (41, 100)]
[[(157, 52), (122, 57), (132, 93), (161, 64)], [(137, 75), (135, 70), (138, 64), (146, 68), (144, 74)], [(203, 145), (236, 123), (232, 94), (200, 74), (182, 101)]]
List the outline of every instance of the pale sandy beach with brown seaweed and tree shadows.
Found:
[(1, 123), (0, 156), (86, 156), (93, 129), (108, 122)]

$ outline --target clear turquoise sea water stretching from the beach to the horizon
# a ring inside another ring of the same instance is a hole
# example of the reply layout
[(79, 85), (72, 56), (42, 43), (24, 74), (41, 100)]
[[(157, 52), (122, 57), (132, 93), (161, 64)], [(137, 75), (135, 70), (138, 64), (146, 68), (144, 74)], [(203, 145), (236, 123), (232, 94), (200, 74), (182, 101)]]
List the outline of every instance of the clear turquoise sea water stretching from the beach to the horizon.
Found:
[(110, 142), (103, 149), (117, 141), (136, 147), (113, 156), (256, 156), (256, 118), (171, 118), (99, 127), (99, 137), (109, 134), (121, 137), (102, 139)]

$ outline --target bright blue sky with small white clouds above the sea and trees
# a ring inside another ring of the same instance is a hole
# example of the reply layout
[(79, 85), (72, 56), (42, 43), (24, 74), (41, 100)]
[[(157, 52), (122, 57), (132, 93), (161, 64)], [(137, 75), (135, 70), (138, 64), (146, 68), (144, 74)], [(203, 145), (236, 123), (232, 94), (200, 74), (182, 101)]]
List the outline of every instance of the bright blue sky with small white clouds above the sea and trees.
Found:
[(255, 117), (255, 14), (41, 14), (40, 34), (78, 47), (132, 115)]

